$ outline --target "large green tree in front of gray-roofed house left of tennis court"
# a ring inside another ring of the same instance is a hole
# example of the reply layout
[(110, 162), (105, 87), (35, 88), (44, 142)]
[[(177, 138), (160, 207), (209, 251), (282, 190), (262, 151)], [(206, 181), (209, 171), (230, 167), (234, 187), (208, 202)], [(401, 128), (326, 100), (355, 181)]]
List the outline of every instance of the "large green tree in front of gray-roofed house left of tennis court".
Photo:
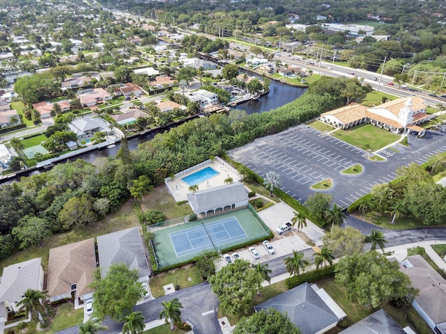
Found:
[(109, 315), (116, 321), (122, 321), (144, 294), (138, 282), (138, 271), (128, 269), (123, 263), (112, 264), (103, 278), (98, 269), (91, 287), (95, 289), (93, 305), (99, 319)]

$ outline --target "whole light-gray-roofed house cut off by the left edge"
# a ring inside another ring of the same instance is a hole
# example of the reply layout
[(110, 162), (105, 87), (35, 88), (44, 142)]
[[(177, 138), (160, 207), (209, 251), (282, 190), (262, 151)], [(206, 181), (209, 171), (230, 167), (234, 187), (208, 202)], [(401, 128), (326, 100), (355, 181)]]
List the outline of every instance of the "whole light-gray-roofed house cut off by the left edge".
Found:
[(0, 283), (0, 322), (8, 319), (8, 313), (17, 312), (28, 289), (43, 290), (44, 272), (42, 258), (11, 264), (3, 268)]

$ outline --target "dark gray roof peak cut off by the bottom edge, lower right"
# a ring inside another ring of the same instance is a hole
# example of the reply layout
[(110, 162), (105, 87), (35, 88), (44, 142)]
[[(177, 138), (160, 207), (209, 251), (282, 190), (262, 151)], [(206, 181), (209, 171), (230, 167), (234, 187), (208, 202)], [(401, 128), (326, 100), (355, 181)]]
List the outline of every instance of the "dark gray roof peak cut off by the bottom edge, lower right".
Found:
[(369, 317), (344, 329), (339, 334), (406, 334), (406, 332), (397, 324), (385, 310), (381, 309)]

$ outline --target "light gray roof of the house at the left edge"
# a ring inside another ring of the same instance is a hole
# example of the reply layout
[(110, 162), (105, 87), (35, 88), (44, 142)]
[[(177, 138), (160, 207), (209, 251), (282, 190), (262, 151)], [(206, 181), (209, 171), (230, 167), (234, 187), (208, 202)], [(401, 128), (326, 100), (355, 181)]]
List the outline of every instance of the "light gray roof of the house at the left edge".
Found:
[(0, 303), (20, 301), (27, 289), (41, 290), (39, 278), (42, 258), (11, 264), (3, 269), (0, 283)]

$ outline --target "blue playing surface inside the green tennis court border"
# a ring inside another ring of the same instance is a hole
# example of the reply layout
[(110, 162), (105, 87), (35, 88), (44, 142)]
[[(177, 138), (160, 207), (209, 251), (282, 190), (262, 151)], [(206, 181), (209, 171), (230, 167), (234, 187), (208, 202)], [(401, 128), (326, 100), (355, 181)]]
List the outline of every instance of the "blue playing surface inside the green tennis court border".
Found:
[(214, 221), (194, 228), (172, 232), (169, 237), (177, 257), (215, 248), (247, 237), (236, 217)]

